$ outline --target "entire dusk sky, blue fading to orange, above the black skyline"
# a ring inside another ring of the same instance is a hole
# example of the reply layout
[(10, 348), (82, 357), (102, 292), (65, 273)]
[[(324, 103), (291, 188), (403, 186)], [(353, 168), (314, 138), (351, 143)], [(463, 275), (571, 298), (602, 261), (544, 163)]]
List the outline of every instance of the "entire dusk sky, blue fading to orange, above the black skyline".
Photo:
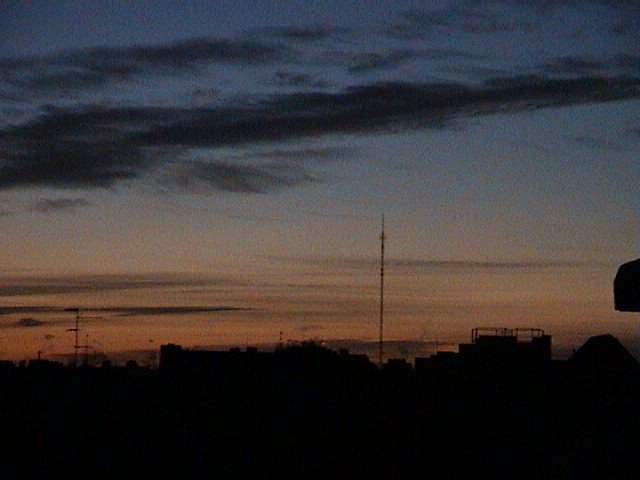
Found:
[[(632, 1), (3, 1), (0, 357), (612, 333)], [(395, 343), (394, 343), (395, 342)]]

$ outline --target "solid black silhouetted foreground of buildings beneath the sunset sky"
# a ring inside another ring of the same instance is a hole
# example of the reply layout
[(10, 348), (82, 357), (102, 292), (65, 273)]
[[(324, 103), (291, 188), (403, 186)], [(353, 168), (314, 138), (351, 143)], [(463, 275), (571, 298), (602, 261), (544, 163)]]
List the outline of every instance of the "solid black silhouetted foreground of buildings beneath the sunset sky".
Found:
[(5, 364), (0, 478), (637, 479), (637, 363), (598, 355)]

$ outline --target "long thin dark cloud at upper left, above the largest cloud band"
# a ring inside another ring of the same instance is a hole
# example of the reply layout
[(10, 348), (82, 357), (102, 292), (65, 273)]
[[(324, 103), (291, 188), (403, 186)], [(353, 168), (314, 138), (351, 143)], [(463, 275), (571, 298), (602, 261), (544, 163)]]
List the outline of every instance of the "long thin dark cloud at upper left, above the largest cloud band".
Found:
[(269, 64), (287, 55), (258, 40), (195, 38), (168, 45), (92, 48), (45, 57), (0, 59), (0, 81), (29, 91), (103, 86), (146, 74), (184, 73), (211, 63)]

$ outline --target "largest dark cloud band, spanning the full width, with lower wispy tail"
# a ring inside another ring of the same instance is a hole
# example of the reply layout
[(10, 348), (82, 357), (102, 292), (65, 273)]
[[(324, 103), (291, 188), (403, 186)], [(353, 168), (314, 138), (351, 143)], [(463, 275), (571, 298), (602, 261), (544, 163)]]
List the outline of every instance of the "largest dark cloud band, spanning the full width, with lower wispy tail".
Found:
[(295, 165), (189, 163), (189, 151), (443, 128), (467, 117), (637, 98), (639, 87), (640, 78), (628, 75), (521, 76), (474, 85), (389, 82), (227, 107), (49, 109), (0, 130), (0, 189), (110, 187), (168, 170), (184, 185), (268, 192), (317, 178)]

